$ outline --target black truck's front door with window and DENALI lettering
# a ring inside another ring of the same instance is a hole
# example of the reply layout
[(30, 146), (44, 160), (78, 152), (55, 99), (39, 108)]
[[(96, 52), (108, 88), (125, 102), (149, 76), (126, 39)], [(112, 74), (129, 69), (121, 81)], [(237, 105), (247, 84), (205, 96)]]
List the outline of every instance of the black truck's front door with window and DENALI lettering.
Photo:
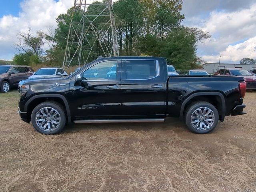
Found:
[[(113, 67), (115, 70), (112, 70)], [(81, 73), (82, 82), (74, 82), (70, 97), (75, 119), (111, 118), (120, 111), (121, 60), (104, 61)], [(70, 82), (72, 84), (72, 82)]]

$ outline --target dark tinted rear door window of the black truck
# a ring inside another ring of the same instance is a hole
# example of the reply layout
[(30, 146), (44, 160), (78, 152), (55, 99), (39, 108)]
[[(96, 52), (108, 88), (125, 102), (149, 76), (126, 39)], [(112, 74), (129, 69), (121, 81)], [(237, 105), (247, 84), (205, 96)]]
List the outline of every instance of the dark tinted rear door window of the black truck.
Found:
[[(122, 68), (123, 70), (123, 68)], [(122, 79), (150, 79), (158, 76), (155, 60), (126, 60)]]

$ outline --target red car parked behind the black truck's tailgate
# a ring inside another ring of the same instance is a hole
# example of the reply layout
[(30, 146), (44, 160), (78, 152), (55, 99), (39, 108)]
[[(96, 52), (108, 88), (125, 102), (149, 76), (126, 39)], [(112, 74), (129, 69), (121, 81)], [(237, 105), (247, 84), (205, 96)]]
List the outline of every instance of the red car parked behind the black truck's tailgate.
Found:
[(228, 68), (228, 69), (220, 69), (214, 75), (231, 75), (231, 76), (238, 76), (244, 77), (244, 81), (246, 82), (246, 89), (247, 90), (256, 90), (256, 76), (252, 75), (245, 69), (238, 69), (238, 68)]

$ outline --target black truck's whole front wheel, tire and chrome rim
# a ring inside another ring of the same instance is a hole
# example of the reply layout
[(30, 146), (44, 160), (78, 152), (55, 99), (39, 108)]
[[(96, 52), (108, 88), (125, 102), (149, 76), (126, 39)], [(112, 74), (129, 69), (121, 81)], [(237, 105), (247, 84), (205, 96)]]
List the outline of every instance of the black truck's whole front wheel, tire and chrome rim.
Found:
[(31, 122), (35, 130), (42, 134), (56, 134), (64, 128), (66, 116), (57, 102), (43, 102), (32, 111)]

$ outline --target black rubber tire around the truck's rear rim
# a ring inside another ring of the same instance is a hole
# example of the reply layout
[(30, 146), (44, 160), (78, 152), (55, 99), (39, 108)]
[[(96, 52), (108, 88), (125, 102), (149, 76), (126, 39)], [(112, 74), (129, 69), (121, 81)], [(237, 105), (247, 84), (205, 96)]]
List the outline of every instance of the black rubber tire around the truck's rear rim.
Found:
[[(191, 116), (192, 113), (194, 112), (194, 110), (196, 110), (197, 108), (200, 107), (207, 107), (210, 108), (213, 112), (214, 112), (214, 124), (212, 125), (212, 127), (208, 130), (197, 130), (196, 128), (193, 127), (192, 123), (191, 123)], [(190, 108), (188, 109), (188, 112), (186, 113), (186, 125), (188, 126), (188, 128), (194, 132), (194, 133), (198, 133), (198, 134), (206, 134), (211, 132), (212, 130), (214, 130), (214, 128), (216, 128), (217, 124), (219, 121), (219, 113), (218, 110), (210, 103), (208, 102), (199, 102), (199, 103), (195, 103), (192, 104), (192, 106), (190, 106)]]

